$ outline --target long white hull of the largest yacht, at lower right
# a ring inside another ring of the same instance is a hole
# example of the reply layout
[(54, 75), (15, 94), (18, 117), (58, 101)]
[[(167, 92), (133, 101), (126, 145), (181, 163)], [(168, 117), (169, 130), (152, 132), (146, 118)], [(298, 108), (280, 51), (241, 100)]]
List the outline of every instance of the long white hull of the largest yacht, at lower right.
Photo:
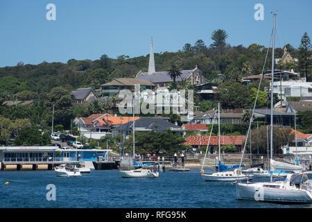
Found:
[[(258, 200), (281, 203), (312, 203), (312, 194), (309, 190), (283, 189), (282, 183), (268, 183), (263, 187), (262, 183), (236, 184), (238, 200)], [(274, 187), (275, 186), (275, 187)]]

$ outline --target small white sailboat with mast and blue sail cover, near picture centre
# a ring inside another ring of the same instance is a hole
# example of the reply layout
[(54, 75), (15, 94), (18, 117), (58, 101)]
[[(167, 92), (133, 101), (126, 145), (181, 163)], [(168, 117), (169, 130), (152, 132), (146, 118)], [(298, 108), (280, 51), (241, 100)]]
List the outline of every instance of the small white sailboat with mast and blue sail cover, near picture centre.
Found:
[(132, 100), (133, 107), (133, 157), (121, 157), (119, 173), (123, 178), (157, 178), (159, 172), (154, 169), (143, 169), (141, 167), (151, 164), (138, 164), (135, 162), (135, 99)]

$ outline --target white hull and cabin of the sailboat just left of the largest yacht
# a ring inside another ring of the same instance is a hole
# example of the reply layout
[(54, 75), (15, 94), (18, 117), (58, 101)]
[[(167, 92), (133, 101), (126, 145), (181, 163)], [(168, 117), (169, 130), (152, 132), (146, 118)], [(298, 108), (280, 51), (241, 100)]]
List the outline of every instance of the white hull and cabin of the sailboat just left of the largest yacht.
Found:
[(224, 181), (224, 182), (235, 182), (235, 181), (245, 181), (252, 180), (252, 176), (246, 176), (241, 173), (239, 169), (234, 169), (234, 171), (223, 171), (212, 174), (202, 173), (203, 178), (206, 181)]

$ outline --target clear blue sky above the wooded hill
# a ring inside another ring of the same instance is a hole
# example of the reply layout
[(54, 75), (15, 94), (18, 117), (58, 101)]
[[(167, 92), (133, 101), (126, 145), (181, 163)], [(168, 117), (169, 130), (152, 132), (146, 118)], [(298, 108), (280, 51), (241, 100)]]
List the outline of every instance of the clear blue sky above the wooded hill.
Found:
[[(56, 6), (56, 20), (46, 19), (46, 5)], [(264, 20), (254, 19), (254, 5), (264, 6)], [(304, 32), (312, 38), (310, 0), (27, 0), (0, 2), (0, 67), (46, 62), (146, 56), (181, 50), (212, 31), (225, 29), (232, 46), (267, 46), (277, 11), (276, 46), (297, 47)]]

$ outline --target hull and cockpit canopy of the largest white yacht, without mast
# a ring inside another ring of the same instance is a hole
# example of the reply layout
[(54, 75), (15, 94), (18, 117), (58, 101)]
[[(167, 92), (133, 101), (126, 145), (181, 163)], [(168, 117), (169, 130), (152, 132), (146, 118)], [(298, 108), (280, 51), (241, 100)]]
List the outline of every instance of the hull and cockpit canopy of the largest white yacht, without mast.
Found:
[[(312, 176), (310, 172), (309, 174)], [(312, 203), (312, 180), (308, 173), (293, 173), (284, 181), (237, 183), (238, 200)]]

